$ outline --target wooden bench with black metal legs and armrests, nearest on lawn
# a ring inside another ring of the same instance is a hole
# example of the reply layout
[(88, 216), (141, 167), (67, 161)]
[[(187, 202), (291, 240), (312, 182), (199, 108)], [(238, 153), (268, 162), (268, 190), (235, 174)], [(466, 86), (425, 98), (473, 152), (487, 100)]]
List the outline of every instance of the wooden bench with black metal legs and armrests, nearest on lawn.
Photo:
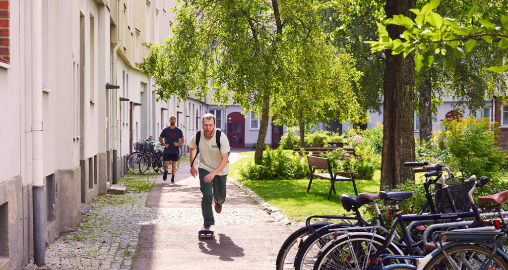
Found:
[[(355, 189), (355, 194), (358, 196), (358, 190), (356, 189), (355, 176), (354, 176), (353, 172), (332, 173), (332, 167), (330, 166), (330, 160), (328, 158), (315, 157), (315, 156), (308, 155), (307, 161), (309, 162), (309, 170), (310, 170), (310, 180), (309, 180), (309, 186), (307, 187), (307, 193), (310, 190), (310, 185), (312, 184), (312, 179), (314, 177), (317, 177), (317, 178), (321, 178), (321, 179), (328, 179), (331, 182), (330, 192), (328, 192), (328, 200), (330, 200), (330, 197), (332, 196), (332, 191), (334, 194), (337, 194), (337, 192), (335, 192), (335, 182), (337, 182), (337, 181), (353, 182), (353, 188)], [(324, 173), (324, 174), (314, 173), (315, 170), (318, 170), (318, 169), (328, 170), (328, 173)], [(339, 176), (339, 175), (349, 175), (350, 178)]]

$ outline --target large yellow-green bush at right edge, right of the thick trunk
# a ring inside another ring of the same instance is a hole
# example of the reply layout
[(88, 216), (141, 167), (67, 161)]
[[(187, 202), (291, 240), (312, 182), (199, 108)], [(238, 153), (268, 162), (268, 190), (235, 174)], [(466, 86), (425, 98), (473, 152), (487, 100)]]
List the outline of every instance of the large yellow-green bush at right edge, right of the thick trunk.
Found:
[(506, 153), (496, 146), (499, 127), (487, 118), (459, 118), (444, 121), (429, 143), (417, 146), (417, 160), (458, 165), (471, 174), (498, 177)]

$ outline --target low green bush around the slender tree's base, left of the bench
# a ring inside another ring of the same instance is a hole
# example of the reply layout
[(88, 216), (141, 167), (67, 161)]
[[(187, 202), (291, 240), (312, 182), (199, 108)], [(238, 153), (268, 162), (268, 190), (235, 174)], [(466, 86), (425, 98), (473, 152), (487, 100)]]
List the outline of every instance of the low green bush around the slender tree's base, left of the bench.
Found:
[(282, 148), (271, 150), (266, 147), (263, 159), (259, 164), (245, 163), (239, 167), (242, 179), (277, 180), (302, 179), (310, 177), (307, 158), (300, 155), (285, 153)]

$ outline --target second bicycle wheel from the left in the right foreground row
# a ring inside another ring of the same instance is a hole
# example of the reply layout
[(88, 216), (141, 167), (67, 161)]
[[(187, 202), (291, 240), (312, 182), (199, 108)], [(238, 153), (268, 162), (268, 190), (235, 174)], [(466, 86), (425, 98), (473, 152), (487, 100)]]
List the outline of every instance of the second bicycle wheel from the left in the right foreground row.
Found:
[(315, 256), (320, 250), (334, 238), (335, 235), (341, 235), (342, 232), (336, 231), (334, 229), (353, 227), (356, 224), (351, 223), (337, 223), (330, 224), (329, 226), (325, 226), (320, 228), (309, 235), (309, 237), (300, 245), (298, 249), (296, 259), (295, 259), (295, 269), (297, 270), (311, 270), (314, 268), (314, 263), (316, 261)]

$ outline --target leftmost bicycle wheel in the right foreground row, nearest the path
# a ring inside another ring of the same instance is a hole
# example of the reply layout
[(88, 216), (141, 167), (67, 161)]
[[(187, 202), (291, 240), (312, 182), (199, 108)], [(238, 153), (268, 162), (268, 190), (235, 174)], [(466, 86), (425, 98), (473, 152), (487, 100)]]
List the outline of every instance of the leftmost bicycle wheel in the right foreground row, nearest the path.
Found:
[[(311, 224), (312, 228), (319, 229), (329, 223), (316, 222)], [(294, 269), (295, 256), (298, 252), (297, 243), (303, 243), (303, 241), (312, 233), (307, 226), (303, 226), (293, 232), (282, 244), (275, 260), (275, 269)]]

